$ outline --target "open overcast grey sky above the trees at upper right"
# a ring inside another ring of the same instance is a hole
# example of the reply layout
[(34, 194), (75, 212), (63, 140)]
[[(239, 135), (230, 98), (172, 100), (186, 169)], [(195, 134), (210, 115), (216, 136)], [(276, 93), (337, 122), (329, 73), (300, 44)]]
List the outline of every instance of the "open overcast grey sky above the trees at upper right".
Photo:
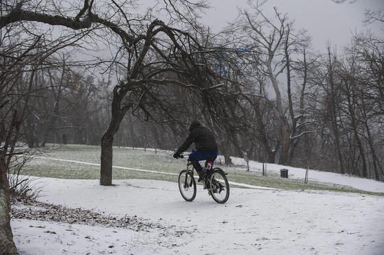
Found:
[[(212, 8), (202, 16), (202, 22), (219, 32), (222, 27), (236, 19), (237, 7), (245, 8), (247, 0), (209, 0)], [(313, 48), (324, 51), (329, 41), (342, 47), (350, 42), (352, 32), (371, 29), (384, 36), (383, 23), (363, 26), (363, 12), (366, 9), (384, 10), (384, 0), (357, 0), (355, 3), (334, 3), (331, 0), (268, 0), (263, 6), (272, 14), (272, 7), (287, 12), (295, 20), (296, 28), (307, 29), (313, 38)]]

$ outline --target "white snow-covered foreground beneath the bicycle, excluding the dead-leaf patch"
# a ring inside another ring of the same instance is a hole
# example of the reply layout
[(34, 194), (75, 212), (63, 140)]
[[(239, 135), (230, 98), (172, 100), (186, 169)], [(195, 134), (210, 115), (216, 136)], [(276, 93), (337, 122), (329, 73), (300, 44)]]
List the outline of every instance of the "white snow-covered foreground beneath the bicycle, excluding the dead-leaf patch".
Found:
[(173, 182), (40, 181), (46, 183), (41, 202), (138, 215), (164, 228), (136, 232), (12, 219), (21, 254), (384, 254), (384, 197), (231, 189), (222, 205), (201, 186), (195, 201), (185, 202)]

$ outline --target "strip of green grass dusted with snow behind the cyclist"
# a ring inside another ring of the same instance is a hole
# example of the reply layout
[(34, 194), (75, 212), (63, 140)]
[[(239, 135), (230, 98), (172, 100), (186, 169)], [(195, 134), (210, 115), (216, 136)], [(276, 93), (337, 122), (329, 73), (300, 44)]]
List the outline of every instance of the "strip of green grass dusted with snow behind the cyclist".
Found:
[[(46, 154), (41, 155), (48, 158), (60, 158), (65, 160), (78, 160), (83, 162), (100, 162), (100, 147), (85, 145), (66, 145), (62, 147), (52, 147)], [(118, 167), (130, 167), (135, 169), (146, 169), (152, 171), (162, 171), (167, 173), (179, 173), (185, 169), (186, 160), (175, 160), (171, 153), (167, 151), (154, 150), (144, 151), (143, 149), (128, 149), (115, 147), (113, 151), (113, 165)], [(256, 186), (267, 186), (279, 189), (314, 189), (328, 191), (345, 191), (356, 193), (368, 193), (352, 189), (348, 186), (337, 184), (326, 184), (320, 182), (309, 182), (304, 184), (303, 180), (280, 178), (273, 173), (265, 177), (261, 171), (245, 171), (244, 167), (226, 167), (219, 165), (228, 173), (228, 179), (233, 182), (241, 182)], [(23, 174), (69, 179), (99, 179), (99, 166), (84, 165), (74, 162), (62, 162), (43, 158), (34, 158), (25, 165)], [(177, 182), (177, 175), (167, 175), (164, 173), (147, 173), (127, 169), (113, 169), (113, 179), (151, 179), (167, 180)], [(383, 195), (374, 193), (376, 195)]]

